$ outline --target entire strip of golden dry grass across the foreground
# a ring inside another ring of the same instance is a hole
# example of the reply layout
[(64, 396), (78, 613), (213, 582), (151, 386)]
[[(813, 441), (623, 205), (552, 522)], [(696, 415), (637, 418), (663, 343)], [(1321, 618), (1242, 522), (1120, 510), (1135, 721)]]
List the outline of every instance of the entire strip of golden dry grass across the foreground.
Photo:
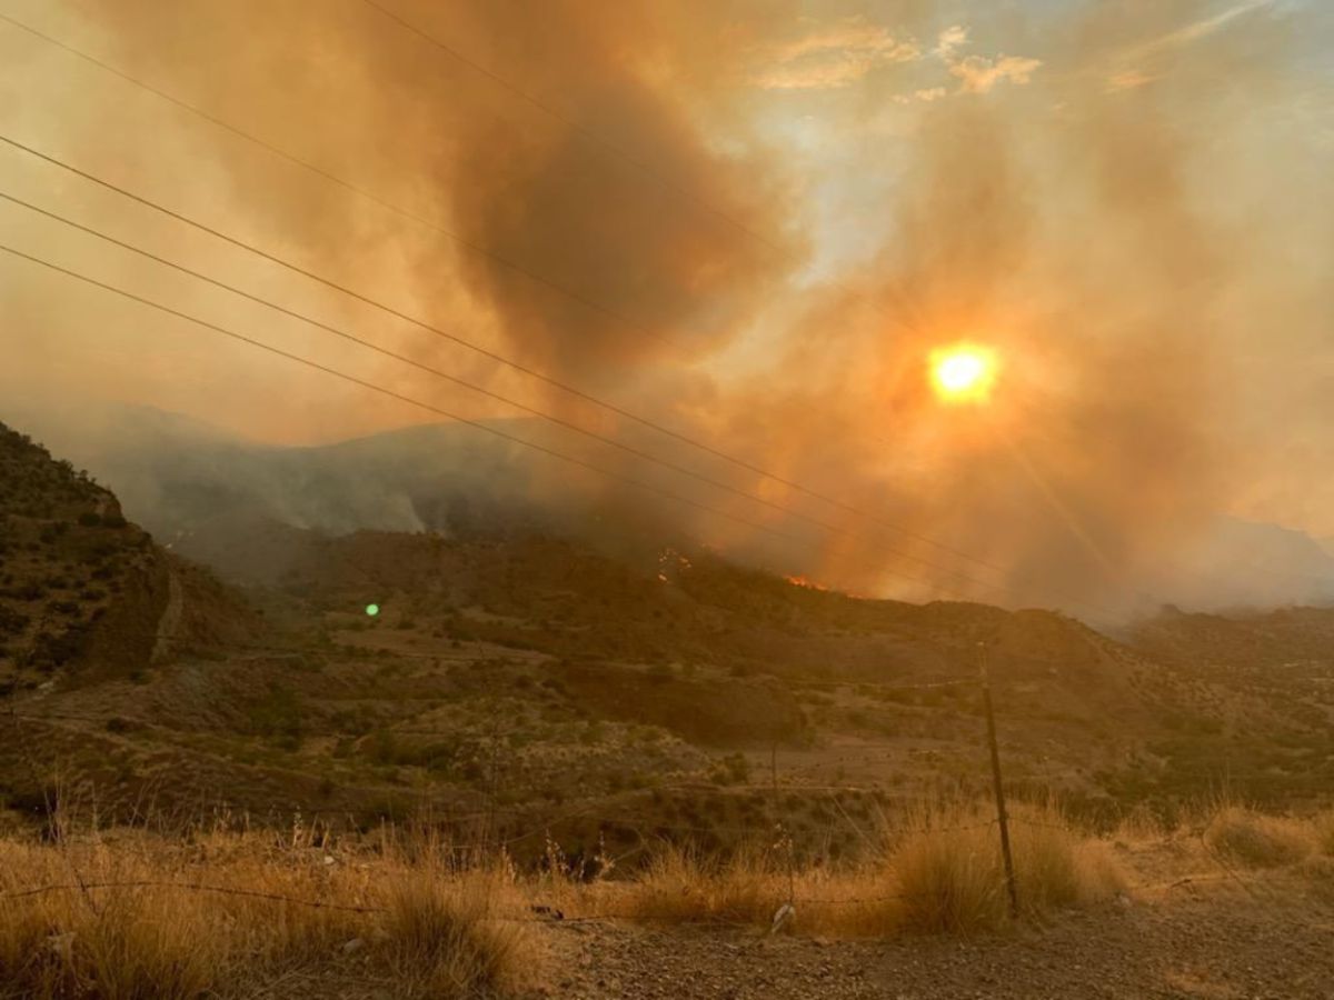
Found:
[[(1110, 844), (1058, 809), (1021, 805), (1011, 820), (1025, 919), (1125, 889)], [(1171, 849), (1147, 848), (1153, 864), (1301, 863), (1309, 892), (1334, 900), (1334, 813), (1295, 820), (1226, 804), (1198, 832), (1159, 831)], [(0, 837), (0, 997), (232, 997), (284, 979), (338, 992), (340, 977), (403, 997), (503, 993), (540, 979), (532, 903), (567, 916), (768, 931), (792, 900), (784, 931), (827, 937), (967, 935), (1013, 921), (996, 825), (982, 807), (884, 821), (878, 849), (842, 867), (788, 871), (787, 844), (775, 840), (727, 859), (663, 848), (630, 877), (590, 883), (556, 849), (543, 872), (519, 877), (503, 860), (460, 865), (419, 832), (336, 847), (273, 833)], [(1182, 855), (1182, 844), (1194, 847)], [(15, 895), (41, 885), (57, 888)]]

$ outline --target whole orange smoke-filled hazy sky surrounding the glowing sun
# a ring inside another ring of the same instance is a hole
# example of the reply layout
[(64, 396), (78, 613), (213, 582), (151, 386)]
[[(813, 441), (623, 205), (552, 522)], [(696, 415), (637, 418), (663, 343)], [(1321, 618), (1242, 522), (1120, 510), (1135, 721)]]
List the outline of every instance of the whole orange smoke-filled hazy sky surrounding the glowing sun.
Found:
[[(1217, 513), (1334, 536), (1330, 5), (376, 4), (456, 55), (366, 0), (5, 0), (208, 117), (0, 21), (0, 133), (1054, 585), (1146, 579)], [(4, 144), (0, 191), (638, 433)], [(0, 233), (511, 412), (8, 201)], [(5, 253), (0, 303), (0, 409), (127, 400), (288, 443), (439, 419)], [(927, 389), (959, 340), (996, 352), (986, 407)], [(847, 548), (822, 568), (875, 583)]]

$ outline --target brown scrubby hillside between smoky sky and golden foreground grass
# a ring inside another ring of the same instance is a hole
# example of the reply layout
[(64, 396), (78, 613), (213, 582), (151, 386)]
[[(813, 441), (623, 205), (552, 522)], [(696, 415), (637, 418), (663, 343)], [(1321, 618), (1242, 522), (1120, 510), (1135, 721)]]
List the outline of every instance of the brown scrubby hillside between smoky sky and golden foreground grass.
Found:
[[(1319, 645), (1315, 611), (1165, 616), (1118, 640), (1057, 612), (820, 591), (647, 531), (594, 545), (476, 499), (412, 533), (221, 504), (177, 539), (217, 583), (7, 440), (27, 484), (5, 508), (24, 739), (105, 815), (152, 799), (354, 828), (431, 816), (523, 857), (548, 829), (572, 856), (648, 833), (728, 844), (778, 809), (802, 851), (856, 851), (896, 801), (987, 788), (979, 643), (1017, 795), (1110, 821), (1225, 779), (1290, 800), (1325, 780), (1327, 711), (1255, 685), (1274, 655)], [(75, 613), (43, 617), (55, 601)], [(72, 636), (59, 664), (29, 652), (52, 620)], [(1210, 643), (1250, 649), (1250, 673), (1218, 669)], [(1218, 756), (1238, 740), (1261, 765)], [(37, 801), (16, 773), (12, 801)]]

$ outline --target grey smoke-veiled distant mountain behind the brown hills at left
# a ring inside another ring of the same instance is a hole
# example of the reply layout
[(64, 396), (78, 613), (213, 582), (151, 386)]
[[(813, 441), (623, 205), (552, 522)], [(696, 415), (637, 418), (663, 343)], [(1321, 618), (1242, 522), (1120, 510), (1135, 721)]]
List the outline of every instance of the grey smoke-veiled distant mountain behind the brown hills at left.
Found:
[[(506, 429), (526, 432), (522, 423)], [(315, 448), (264, 445), (143, 407), (107, 408), (87, 429), (40, 416), (37, 425), (163, 544), (187, 552), (215, 520), (335, 535), (440, 528), (466, 515), (468, 497), (524, 505), (532, 460), (519, 445), (463, 424)]]

